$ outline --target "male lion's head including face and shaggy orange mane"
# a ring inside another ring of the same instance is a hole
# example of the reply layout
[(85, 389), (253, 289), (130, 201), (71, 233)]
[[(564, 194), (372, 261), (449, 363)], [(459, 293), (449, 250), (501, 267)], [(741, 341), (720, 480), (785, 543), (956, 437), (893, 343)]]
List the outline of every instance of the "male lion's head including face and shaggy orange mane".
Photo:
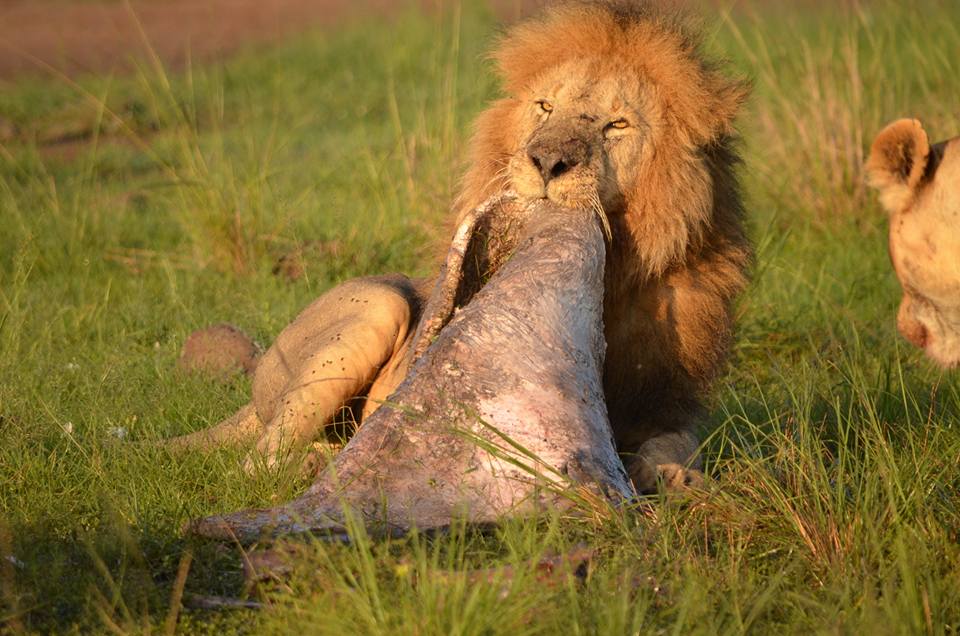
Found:
[(724, 188), (747, 87), (705, 63), (680, 20), (566, 2), (511, 29), (494, 58), (508, 96), (478, 120), (462, 209), (501, 189), (602, 205), (619, 260), (648, 277), (704, 239), (718, 197), (736, 198)]

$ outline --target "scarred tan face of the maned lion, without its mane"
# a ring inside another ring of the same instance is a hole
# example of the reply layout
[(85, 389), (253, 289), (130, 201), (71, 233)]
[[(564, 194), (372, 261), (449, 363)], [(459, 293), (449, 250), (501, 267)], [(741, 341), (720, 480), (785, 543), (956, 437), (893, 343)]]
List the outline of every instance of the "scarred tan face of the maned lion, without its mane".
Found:
[(511, 187), (524, 198), (622, 211), (633, 177), (624, 167), (639, 163), (647, 130), (640, 87), (582, 60), (542, 75), (518, 99)]

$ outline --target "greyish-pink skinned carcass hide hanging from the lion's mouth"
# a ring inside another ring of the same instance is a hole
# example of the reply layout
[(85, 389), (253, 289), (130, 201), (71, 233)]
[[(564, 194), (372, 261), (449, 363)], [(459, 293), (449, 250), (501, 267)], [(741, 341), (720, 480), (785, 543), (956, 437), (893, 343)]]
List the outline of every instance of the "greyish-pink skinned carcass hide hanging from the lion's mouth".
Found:
[(242, 543), (340, 534), (352, 514), (397, 534), (564, 507), (572, 489), (632, 496), (602, 386), (605, 219), (547, 201), (498, 205), (522, 220), (512, 256), (454, 310), (465, 253), (455, 240), (405, 380), (307, 492), (194, 521), (193, 533)]

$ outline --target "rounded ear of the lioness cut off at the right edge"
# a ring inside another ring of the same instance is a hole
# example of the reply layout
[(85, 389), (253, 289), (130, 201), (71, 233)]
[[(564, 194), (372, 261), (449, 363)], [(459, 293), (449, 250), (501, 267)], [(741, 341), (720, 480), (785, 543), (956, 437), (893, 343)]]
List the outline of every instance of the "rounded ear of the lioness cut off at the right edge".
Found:
[(895, 121), (877, 135), (867, 160), (867, 182), (880, 192), (888, 212), (906, 207), (923, 179), (930, 140), (916, 119)]

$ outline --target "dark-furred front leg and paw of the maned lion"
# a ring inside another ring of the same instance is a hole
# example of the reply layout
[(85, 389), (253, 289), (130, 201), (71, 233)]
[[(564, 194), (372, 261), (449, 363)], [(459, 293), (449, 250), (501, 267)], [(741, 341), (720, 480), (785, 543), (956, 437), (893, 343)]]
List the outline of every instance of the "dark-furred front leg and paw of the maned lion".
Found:
[(609, 294), (607, 404), (640, 492), (703, 481), (699, 400), (726, 359), (731, 294), (742, 285), (739, 266), (714, 254), (643, 288), (615, 286)]

